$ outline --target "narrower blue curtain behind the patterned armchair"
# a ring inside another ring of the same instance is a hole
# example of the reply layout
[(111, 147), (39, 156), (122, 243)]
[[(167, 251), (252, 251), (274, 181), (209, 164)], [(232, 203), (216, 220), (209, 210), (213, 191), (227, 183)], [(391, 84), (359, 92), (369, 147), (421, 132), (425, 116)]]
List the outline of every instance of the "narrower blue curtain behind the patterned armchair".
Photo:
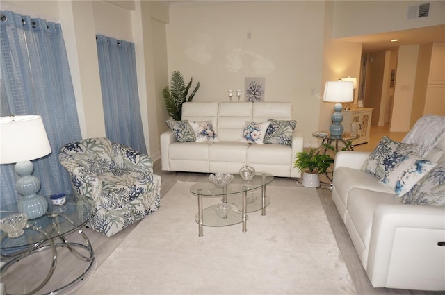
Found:
[(146, 154), (134, 44), (103, 35), (96, 40), (106, 137)]

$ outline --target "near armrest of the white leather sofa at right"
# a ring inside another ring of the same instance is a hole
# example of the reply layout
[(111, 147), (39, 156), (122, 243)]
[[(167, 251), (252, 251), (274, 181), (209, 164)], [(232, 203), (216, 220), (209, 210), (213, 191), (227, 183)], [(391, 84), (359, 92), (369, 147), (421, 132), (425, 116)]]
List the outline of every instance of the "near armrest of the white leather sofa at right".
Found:
[(438, 245), (444, 239), (444, 207), (379, 205), (373, 216), (366, 267), (372, 285), (444, 289), (445, 248)]

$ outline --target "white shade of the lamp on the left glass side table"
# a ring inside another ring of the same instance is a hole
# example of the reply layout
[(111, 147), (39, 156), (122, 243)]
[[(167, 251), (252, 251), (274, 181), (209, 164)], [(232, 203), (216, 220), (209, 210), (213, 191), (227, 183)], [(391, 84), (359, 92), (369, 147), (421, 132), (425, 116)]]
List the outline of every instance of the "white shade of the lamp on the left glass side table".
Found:
[(0, 164), (31, 161), (49, 153), (42, 117), (0, 117)]

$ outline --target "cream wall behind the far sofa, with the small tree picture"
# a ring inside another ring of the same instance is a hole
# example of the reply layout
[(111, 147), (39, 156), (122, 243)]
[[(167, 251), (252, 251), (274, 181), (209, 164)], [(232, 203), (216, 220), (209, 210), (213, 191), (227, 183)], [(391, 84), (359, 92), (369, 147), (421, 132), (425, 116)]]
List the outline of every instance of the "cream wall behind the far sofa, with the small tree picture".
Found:
[(168, 71), (200, 81), (195, 101), (229, 101), (227, 90), (244, 89), (245, 77), (265, 77), (265, 101), (292, 102), (309, 145), (318, 129), (323, 22), (322, 1), (170, 6)]

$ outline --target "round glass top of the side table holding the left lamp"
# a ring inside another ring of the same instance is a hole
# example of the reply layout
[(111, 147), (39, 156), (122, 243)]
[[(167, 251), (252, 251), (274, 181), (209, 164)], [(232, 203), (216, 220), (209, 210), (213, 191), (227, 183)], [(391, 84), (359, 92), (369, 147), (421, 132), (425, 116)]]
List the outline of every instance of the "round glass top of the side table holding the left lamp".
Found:
[[(48, 201), (48, 211), (42, 217), (29, 219), (24, 227), (24, 234), (10, 238), (8, 234), (0, 233), (0, 249), (6, 251), (42, 244), (47, 239), (54, 239), (60, 235), (71, 233), (76, 228), (83, 226), (96, 212), (95, 202), (85, 196), (75, 196), (67, 194), (67, 201), (63, 205), (52, 205), (49, 196), (45, 196)], [(0, 208), (0, 218), (17, 213), (17, 203), (6, 205)], [(1, 228), (0, 228), (1, 229)], [(45, 237), (39, 230), (47, 233)]]

